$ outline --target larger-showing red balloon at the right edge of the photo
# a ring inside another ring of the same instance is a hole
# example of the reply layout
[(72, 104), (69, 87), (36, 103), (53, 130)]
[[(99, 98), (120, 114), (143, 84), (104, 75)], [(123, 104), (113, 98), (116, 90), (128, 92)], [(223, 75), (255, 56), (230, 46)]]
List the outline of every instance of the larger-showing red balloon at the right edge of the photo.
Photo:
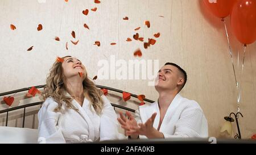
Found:
[(256, 40), (256, 1), (238, 1), (232, 9), (230, 22), (234, 35), (241, 43), (253, 43)]

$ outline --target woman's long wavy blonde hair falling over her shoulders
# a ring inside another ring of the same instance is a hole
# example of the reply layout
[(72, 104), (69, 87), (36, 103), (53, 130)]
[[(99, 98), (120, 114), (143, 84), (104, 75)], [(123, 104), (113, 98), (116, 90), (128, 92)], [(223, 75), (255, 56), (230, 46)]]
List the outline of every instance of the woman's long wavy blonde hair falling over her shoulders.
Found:
[[(65, 96), (67, 90), (64, 85), (65, 77), (63, 74), (62, 63), (55, 61), (49, 71), (49, 75), (46, 79), (46, 86), (44, 87), (44, 90), (42, 92), (42, 97), (44, 101), (49, 97), (53, 98), (58, 103), (58, 106), (55, 108), (55, 112), (61, 110), (63, 103), (65, 103), (67, 108), (73, 108), (74, 110), (77, 110), (77, 108), (71, 103), (73, 98)], [(94, 82), (92, 82), (88, 78), (86, 70), (84, 80), (82, 81), (82, 87), (84, 88), (84, 94), (88, 93), (90, 99), (89, 107), (93, 106), (96, 113), (100, 115), (104, 104), (101, 98), (102, 91), (100, 89), (97, 89)]]

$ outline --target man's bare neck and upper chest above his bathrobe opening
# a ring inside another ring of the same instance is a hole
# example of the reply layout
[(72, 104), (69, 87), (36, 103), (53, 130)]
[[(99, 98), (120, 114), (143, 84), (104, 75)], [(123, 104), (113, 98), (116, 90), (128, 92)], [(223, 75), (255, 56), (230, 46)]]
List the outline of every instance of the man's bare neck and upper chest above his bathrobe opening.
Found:
[(174, 100), (177, 91), (159, 91), (158, 106), (159, 110), (166, 111), (170, 106), (172, 100)]

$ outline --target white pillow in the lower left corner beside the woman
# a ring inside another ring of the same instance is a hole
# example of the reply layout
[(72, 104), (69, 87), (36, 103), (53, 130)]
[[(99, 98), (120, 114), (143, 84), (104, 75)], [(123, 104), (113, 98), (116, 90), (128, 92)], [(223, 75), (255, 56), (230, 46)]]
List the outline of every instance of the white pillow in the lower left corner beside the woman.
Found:
[(0, 127), (0, 144), (3, 143), (37, 143), (38, 129)]

